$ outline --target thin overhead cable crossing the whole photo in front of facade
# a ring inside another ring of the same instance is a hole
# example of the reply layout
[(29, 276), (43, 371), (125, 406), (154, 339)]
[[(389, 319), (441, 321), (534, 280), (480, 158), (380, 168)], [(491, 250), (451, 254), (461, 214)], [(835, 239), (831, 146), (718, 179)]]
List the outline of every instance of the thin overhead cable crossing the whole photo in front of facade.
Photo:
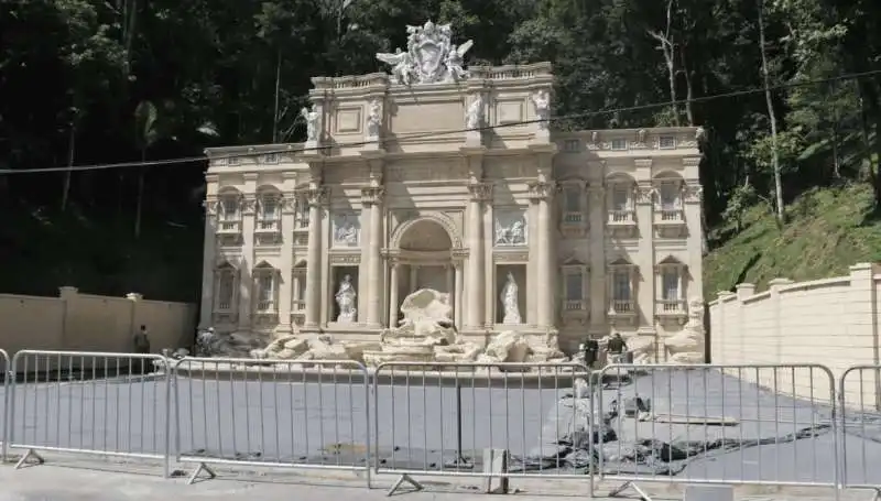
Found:
[[(794, 87), (805, 87), (812, 85), (820, 85), (820, 84), (831, 84), (835, 81), (841, 80), (852, 80), (858, 78), (864, 78), (870, 76), (881, 75), (881, 69), (873, 69), (870, 72), (861, 72), (861, 73), (849, 73), (844, 75), (838, 75), (835, 77), (829, 78), (818, 78), (812, 80), (801, 80), (801, 81), (790, 81), (786, 84), (779, 84), (770, 87), (770, 90), (780, 90), (786, 88), (794, 88)], [(472, 132), (472, 131), (487, 131), (487, 130), (496, 130), (496, 129), (504, 129), (510, 127), (520, 127), (520, 126), (527, 126), (531, 123), (540, 123), (540, 122), (555, 122), (555, 121), (564, 121), (564, 120), (574, 120), (574, 119), (583, 119), (583, 118), (592, 118), (599, 117), (602, 115), (614, 115), (614, 113), (623, 113), (630, 111), (642, 111), (646, 109), (655, 109), (655, 108), (665, 108), (668, 106), (678, 106), (685, 105), (687, 102), (706, 102), (711, 101), (715, 99), (729, 99), (729, 98), (737, 98), (742, 96), (750, 96), (753, 94), (764, 92), (764, 87), (753, 87), (750, 89), (742, 89), (742, 90), (732, 90), (730, 92), (722, 92), (722, 94), (714, 94), (710, 96), (701, 96), (695, 97), (692, 99), (677, 99), (675, 101), (662, 101), (662, 102), (653, 102), (648, 105), (639, 105), (639, 106), (629, 106), (622, 108), (612, 108), (612, 109), (603, 109), (598, 111), (586, 111), (581, 113), (569, 113), (557, 117), (550, 117), (547, 119), (539, 119), (539, 120), (521, 120), (516, 122), (510, 123), (501, 123), (498, 126), (487, 126), (487, 127), (478, 127), (474, 129), (459, 129), (453, 131), (445, 131), (445, 132), (422, 132), (422, 133), (414, 133), (414, 134), (404, 134), (401, 139), (413, 140), (413, 139), (421, 139), (421, 138), (434, 138), (438, 134), (460, 134), (465, 132)], [(314, 148), (302, 148), (297, 150), (291, 150), (289, 148), (279, 148), (274, 150), (261, 150), (259, 154), (274, 154), (274, 153), (302, 153), (302, 152), (309, 152), (309, 151), (326, 151), (336, 148), (357, 148), (363, 146), (368, 144), (373, 144), (376, 141), (359, 141), (359, 142), (351, 142), (345, 144), (335, 144), (335, 145), (323, 145), (323, 146), (314, 146)], [(211, 156), (213, 160), (222, 160), (222, 159), (232, 159), (232, 157), (244, 157), (244, 156), (253, 156), (255, 153), (229, 153), (226, 155), (217, 155)], [(127, 168), (127, 167), (151, 167), (151, 166), (160, 166), (160, 165), (178, 165), (178, 164), (188, 164), (188, 163), (202, 163), (205, 162), (206, 159), (204, 155), (199, 156), (182, 156), (176, 159), (165, 159), (165, 160), (149, 160), (149, 161), (137, 161), (137, 162), (118, 162), (118, 163), (105, 163), (105, 164), (91, 164), (91, 165), (68, 165), (68, 166), (59, 166), (59, 167), (44, 167), (44, 168), (26, 168), (26, 170), (14, 170), (14, 168), (2, 168), (0, 170), (0, 175), (3, 174), (40, 174), (40, 173), (52, 173), (52, 172), (78, 172), (78, 171), (101, 171), (106, 168)]]

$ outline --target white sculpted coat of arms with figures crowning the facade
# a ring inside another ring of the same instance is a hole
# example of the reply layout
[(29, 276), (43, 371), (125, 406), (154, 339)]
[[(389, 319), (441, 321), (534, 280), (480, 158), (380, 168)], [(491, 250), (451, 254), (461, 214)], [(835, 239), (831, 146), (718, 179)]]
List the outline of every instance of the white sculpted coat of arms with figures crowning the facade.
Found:
[(378, 53), (377, 58), (392, 66), (392, 76), (400, 85), (459, 81), (468, 78), (463, 67), (472, 41), (456, 45), (449, 24), (427, 21), (422, 26), (406, 26), (406, 52)]

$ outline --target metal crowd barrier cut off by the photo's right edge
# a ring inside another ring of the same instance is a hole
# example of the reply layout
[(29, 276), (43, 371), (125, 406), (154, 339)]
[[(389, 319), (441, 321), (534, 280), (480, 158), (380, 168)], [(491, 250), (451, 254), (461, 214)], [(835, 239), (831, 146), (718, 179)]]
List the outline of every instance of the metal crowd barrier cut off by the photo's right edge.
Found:
[(881, 498), (881, 366), (855, 366), (838, 380), (841, 486)]

